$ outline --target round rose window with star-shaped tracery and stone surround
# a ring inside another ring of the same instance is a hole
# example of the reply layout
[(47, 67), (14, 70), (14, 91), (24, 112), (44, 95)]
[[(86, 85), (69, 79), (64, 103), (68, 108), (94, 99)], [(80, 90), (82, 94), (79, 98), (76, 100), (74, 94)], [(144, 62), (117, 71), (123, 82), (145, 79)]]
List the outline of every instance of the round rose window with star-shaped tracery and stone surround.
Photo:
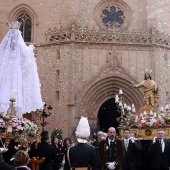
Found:
[(106, 31), (123, 31), (131, 21), (130, 7), (123, 1), (101, 1), (95, 9), (95, 20)]

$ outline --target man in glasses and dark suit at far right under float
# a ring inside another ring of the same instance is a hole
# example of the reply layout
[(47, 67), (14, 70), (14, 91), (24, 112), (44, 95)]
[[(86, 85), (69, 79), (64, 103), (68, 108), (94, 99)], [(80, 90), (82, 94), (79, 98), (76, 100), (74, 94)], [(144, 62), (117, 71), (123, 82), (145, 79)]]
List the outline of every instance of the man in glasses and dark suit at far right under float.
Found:
[(152, 170), (169, 170), (170, 166), (170, 143), (164, 138), (164, 131), (157, 130), (148, 149), (150, 154), (150, 168)]

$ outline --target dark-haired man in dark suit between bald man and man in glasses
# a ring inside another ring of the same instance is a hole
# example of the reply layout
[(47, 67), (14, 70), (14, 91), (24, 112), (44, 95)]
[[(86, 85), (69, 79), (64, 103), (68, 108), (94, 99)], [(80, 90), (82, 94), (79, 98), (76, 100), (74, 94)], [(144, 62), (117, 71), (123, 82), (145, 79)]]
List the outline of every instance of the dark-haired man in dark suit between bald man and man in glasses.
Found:
[(131, 136), (130, 130), (124, 130), (124, 139), (122, 140), (125, 150), (125, 158), (123, 160), (122, 170), (138, 170), (138, 156), (141, 152), (141, 145)]

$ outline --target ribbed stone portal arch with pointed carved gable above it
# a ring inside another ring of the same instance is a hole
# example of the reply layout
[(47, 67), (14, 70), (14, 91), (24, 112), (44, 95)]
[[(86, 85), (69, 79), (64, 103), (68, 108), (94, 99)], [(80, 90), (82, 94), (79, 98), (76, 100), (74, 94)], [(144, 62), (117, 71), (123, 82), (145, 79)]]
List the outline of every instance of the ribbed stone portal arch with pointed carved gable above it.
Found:
[(122, 67), (115, 50), (109, 51), (105, 67), (84, 86), (77, 103), (76, 117), (86, 116), (90, 123), (96, 124), (100, 106), (108, 99), (115, 98), (119, 89), (124, 92), (124, 102), (128, 105), (134, 103), (136, 110), (139, 110), (143, 105), (143, 94), (133, 88), (137, 83)]

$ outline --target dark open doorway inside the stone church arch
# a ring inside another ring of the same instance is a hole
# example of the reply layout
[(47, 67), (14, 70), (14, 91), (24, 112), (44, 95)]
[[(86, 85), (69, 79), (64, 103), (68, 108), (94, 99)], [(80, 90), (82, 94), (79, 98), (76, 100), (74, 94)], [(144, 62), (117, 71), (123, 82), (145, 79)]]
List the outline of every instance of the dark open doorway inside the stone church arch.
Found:
[(117, 111), (115, 99), (110, 98), (105, 101), (98, 112), (99, 130), (107, 132), (109, 127), (115, 127), (117, 129), (118, 122), (116, 118), (119, 116), (120, 113)]

